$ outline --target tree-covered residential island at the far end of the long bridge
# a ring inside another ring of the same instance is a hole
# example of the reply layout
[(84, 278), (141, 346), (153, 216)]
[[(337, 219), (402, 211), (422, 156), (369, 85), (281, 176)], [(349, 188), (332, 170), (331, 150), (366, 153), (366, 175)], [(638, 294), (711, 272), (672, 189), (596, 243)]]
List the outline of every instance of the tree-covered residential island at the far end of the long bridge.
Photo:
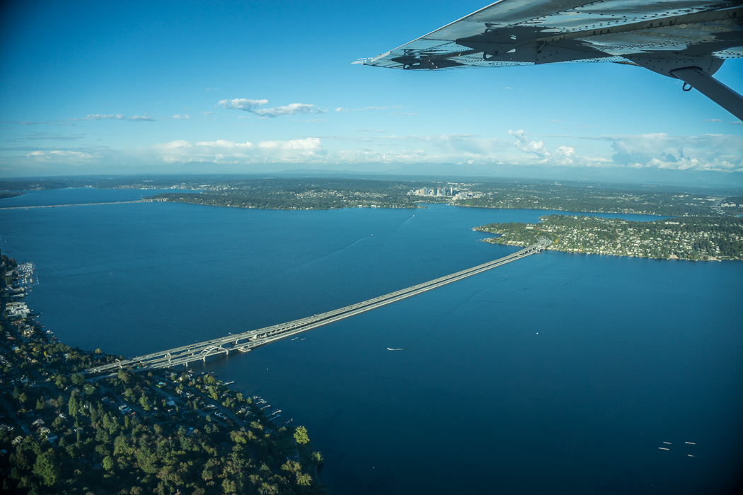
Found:
[(551, 214), (538, 223), (489, 223), (476, 230), (498, 237), (486, 242), (595, 255), (671, 260), (742, 260), (743, 218), (674, 217), (649, 222), (585, 215)]

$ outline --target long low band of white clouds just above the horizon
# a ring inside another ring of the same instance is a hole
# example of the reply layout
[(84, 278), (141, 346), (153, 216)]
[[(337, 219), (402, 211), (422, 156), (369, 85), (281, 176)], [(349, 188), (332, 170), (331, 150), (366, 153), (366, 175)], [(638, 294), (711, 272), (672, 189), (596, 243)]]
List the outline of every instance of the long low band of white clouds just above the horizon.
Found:
[[(236, 105), (250, 107), (248, 102)], [(253, 105), (253, 108), (255, 106)], [(614, 168), (699, 171), (730, 174), (743, 172), (743, 137), (729, 134), (670, 136), (663, 133), (604, 136), (541, 135), (523, 129), (502, 137), (471, 134), (406, 135), (372, 133), (312, 136), (290, 140), (172, 140), (136, 150), (110, 148), (5, 148), (24, 163), (103, 166), (138, 163), (165, 167), (178, 163), (241, 165), (311, 164), (319, 168), (364, 163), (407, 165), (451, 163), (545, 168)], [(0, 160), (11, 163), (9, 155)], [(515, 167), (515, 168), (514, 168)], [(166, 170), (165, 168), (164, 170)], [(236, 168), (232, 168), (235, 170)], [(50, 168), (51, 170), (51, 168)], [(218, 170), (210, 167), (207, 170)], [(630, 172), (631, 173), (631, 172)], [(742, 176), (743, 177), (743, 176)]]

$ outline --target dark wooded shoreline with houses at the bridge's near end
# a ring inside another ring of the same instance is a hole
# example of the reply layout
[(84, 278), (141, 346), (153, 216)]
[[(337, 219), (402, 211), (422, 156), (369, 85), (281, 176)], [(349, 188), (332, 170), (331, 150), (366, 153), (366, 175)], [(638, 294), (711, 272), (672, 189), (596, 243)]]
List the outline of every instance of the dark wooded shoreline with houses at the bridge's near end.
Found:
[(71, 348), (23, 298), (33, 265), (0, 258), (4, 493), (326, 494), (307, 429), (211, 373), (85, 370), (121, 359)]

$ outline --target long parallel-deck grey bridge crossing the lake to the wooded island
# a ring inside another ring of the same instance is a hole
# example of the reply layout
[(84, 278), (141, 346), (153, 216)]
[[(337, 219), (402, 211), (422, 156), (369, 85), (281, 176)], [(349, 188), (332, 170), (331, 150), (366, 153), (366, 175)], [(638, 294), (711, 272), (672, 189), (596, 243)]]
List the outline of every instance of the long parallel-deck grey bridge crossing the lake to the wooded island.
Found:
[(512, 261), (520, 260), (536, 252), (542, 251), (550, 244), (547, 239), (541, 239), (536, 244), (521, 249), (510, 255), (504, 256), (497, 260), (489, 261), (478, 266), (473, 266), (461, 272), (455, 272), (444, 277), (435, 278), (432, 281), (418, 283), (406, 289), (400, 289), (389, 294), (380, 295), (377, 298), (368, 299), (360, 303), (344, 306), (339, 309), (320, 313), (319, 315), (300, 318), (299, 320), (288, 321), (287, 323), (272, 325), (259, 330), (250, 330), (248, 332), (230, 334), (225, 337), (212, 338), (211, 340), (189, 344), (186, 346), (175, 347), (174, 349), (163, 350), (158, 353), (140, 355), (136, 358), (117, 361), (87, 370), (86, 373), (103, 373), (114, 371), (120, 368), (134, 368), (134, 370), (148, 370), (152, 368), (175, 367), (179, 364), (188, 364), (192, 361), (206, 361), (208, 357), (219, 354), (229, 354), (232, 351), (247, 352), (256, 347), (278, 341), (282, 338), (291, 337), (308, 330), (312, 330), (322, 325), (333, 323), (334, 321), (350, 318), (359, 313), (370, 311), (371, 309), (392, 304), (401, 299), (409, 298), (421, 292), (426, 292), (437, 287), (452, 283), (463, 278), (477, 275), (478, 273), (502, 266)]

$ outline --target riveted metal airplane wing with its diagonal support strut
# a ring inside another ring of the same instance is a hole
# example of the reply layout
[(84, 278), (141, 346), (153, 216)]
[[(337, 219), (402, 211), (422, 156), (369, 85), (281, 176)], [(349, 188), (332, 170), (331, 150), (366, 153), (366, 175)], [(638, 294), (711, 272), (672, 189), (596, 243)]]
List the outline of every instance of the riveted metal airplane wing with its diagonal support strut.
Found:
[(354, 63), (403, 70), (564, 62), (639, 65), (681, 79), (743, 119), (743, 97), (712, 75), (743, 58), (743, 1), (499, 0)]

